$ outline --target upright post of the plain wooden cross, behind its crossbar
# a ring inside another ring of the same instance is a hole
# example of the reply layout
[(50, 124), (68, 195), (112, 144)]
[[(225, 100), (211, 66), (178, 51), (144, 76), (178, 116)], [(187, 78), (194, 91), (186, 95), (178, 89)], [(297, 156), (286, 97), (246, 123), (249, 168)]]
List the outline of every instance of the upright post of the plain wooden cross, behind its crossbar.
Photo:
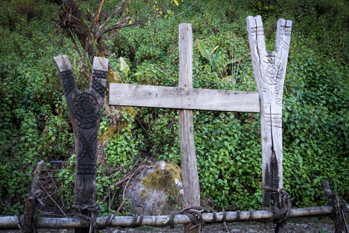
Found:
[[(193, 88), (193, 33), (191, 24), (179, 24), (179, 87)], [(188, 95), (188, 98), (191, 98)], [(179, 146), (184, 207), (200, 206), (199, 176), (194, 145), (193, 111), (179, 110)], [(184, 232), (199, 233), (199, 227), (184, 225)]]

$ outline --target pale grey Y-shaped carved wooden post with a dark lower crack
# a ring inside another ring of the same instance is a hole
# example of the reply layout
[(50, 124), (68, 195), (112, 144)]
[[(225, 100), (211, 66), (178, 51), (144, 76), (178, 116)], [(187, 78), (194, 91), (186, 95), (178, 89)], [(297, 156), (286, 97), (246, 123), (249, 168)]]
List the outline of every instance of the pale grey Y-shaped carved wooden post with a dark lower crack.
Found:
[[(283, 205), (278, 192), (273, 190), (283, 189), (283, 84), (291, 29), (292, 21), (279, 19), (275, 51), (267, 52), (262, 18), (247, 17), (253, 72), (260, 96), (263, 207), (269, 207), (271, 199), (279, 208)], [(285, 232), (285, 224), (278, 224), (276, 232)]]

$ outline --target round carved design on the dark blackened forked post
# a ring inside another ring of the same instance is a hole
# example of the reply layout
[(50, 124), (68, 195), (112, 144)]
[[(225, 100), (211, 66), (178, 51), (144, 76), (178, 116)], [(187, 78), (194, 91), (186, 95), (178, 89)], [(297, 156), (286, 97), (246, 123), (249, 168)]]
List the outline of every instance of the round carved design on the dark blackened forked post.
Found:
[(92, 128), (100, 121), (100, 108), (93, 95), (82, 93), (74, 101), (75, 123), (80, 128)]

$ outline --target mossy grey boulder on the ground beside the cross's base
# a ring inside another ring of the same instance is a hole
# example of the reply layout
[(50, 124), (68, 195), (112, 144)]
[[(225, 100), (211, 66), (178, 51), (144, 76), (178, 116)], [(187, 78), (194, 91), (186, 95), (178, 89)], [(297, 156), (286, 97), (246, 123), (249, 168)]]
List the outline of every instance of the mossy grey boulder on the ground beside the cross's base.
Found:
[(131, 199), (131, 214), (171, 214), (183, 205), (181, 169), (176, 164), (157, 162), (129, 182), (126, 196)]

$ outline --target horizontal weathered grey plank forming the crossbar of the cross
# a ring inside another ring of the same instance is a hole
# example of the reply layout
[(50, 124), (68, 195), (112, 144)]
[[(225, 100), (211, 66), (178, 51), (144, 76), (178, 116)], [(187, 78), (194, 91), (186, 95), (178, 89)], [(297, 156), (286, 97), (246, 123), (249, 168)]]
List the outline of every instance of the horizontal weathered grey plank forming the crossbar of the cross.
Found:
[(258, 92), (110, 83), (109, 104), (184, 110), (259, 112)]

